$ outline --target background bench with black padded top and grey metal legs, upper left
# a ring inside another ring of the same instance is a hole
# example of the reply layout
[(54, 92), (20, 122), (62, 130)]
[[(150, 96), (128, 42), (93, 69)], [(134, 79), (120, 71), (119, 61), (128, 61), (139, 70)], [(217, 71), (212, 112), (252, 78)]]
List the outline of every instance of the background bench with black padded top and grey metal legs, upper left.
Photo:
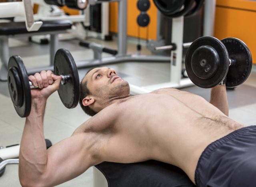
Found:
[[(7, 80), (7, 67), (9, 60), (9, 37), (33, 36), (50, 34), (50, 66), (53, 66), (54, 54), (58, 47), (58, 34), (65, 33), (67, 29), (71, 29), (72, 22), (67, 20), (44, 21), (38, 31), (28, 32), (25, 22), (8, 22), (0, 23), (0, 59), (2, 67), (0, 69), (0, 81)], [(28, 70), (28, 74), (34, 74), (44, 70), (44, 68), (33, 68)]]

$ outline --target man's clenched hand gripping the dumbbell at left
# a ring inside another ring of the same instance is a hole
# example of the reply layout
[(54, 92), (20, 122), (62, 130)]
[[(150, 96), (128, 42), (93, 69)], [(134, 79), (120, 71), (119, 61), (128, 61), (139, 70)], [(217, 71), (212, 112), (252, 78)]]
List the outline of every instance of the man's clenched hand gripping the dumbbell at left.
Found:
[(32, 89), (31, 97), (33, 99), (47, 99), (53, 92), (60, 88), (61, 76), (56, 76), (52, 71), (42, 71), (29, 76), (28, 79), (34, 86), (38, 86), (40, 89)]

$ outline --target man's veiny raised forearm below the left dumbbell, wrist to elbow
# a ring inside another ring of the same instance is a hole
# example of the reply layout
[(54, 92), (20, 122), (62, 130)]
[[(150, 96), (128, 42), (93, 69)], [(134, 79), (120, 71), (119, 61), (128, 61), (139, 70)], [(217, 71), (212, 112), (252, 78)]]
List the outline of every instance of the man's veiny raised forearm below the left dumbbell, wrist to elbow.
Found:
[(46, 99), (32, 99), (30, 115), (26, 118), (20, 144), (19, 177), (21, 183), (36, 183), (47, 163), (43, 119)]

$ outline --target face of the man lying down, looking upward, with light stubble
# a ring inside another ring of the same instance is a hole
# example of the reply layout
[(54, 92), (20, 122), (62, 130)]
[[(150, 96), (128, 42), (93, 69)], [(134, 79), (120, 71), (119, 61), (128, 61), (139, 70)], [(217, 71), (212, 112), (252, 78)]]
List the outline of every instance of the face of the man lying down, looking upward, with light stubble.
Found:
[(98, 102), (109, 102), (112, 99), (128, 97), (128, 82), (116, 75), (111, 68), (94, 68), (85, 77), (87, 87)]

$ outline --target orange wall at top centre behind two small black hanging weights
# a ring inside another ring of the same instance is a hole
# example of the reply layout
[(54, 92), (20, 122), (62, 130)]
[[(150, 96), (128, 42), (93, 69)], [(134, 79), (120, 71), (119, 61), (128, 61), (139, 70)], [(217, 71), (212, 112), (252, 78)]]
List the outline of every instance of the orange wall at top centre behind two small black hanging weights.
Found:
[[(137, 8), (138, 0), (127, 1), (127, 35), (138, 37), (137, 16), (140, 11)], [(157, 8), (153, 0), (150, 0), (150, 8), (147, 11), (150, 16), (148, 25), (148, 38), (156, 40)], [(124, 20), (125, 21), (125, 20)], [(110, 32), (118, 32), (118, 2), (110, 3)], [(140, 27), (140, 38), (147, 39), (147, 28)]]

